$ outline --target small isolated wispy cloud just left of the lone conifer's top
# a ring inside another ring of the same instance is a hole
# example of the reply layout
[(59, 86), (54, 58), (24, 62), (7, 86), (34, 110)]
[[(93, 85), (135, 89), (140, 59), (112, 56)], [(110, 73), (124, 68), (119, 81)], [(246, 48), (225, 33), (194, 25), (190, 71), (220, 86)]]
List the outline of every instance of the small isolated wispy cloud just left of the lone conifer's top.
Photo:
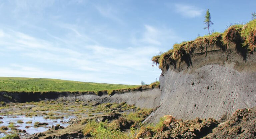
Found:
[(203, 13), (202, 9), (199, 9), (191, 5), (175, 4), (174, 6), (175, 6), (175, 11), (177, 13), (189, 18), (200, 16)]

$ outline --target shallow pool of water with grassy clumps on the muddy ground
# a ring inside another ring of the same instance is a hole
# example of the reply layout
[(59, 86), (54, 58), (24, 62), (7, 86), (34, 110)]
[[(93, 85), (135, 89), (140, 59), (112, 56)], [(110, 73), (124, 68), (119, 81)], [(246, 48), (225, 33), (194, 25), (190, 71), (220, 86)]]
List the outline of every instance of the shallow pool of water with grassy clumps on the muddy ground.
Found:
[[(44, 119), (43, 116), (34, 116), (34, 117), (26, 117), (24, 115), (9, 115), (9, 116), (1, 116), (3, 119), (0, 119), (3, 123), (0, 126), (8, 126), (10, 122), (13, 122), (17, 129), (26, 130), (25, 134), (34, 134), (39, 132), (44, 132), (49, 129), (52, 125), (56, 126), (60, 124), (60, 126), (67, 127), (69, 124), (67, 123), (70, 119), (76, 118), (75, 116), (67, 116), (62, 119)], [(17, 123), (18, 120), (22, 120), (24, 123)], [(26, 122), (32, 121), (30, 124), (26, 124)], [(48, 125), (43, 127), (34, 127), (35, 122), (40, 123), (48, 123)], [(26, 126), (30, 126), (29, 128), (25, 128)], [(3, 131), (1, 131), (3, 132)], [(5, 131), (7, 134), (11, 132), (11, 130)], [(6, 136), (5, 133), (0, 133), (0, 138)]]

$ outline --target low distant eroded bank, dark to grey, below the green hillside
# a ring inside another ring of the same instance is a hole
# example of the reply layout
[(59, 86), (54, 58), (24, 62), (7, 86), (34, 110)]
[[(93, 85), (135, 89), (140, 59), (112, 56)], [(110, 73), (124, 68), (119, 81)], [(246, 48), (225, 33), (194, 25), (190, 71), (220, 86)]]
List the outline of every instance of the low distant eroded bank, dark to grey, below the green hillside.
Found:
[(5, 102), (31, 102), (41, 100), (61, 100), (61, 101), (97, 101), (99, 103), (121, 103), (126, 102), (140, 108), (156, 108), (160, 102), (161, 91), (159, 88), (127, 91), (125, 93), (115, 93), (108, 95), (102, 93), (81, 92), (0, 92), (0, 101)]

